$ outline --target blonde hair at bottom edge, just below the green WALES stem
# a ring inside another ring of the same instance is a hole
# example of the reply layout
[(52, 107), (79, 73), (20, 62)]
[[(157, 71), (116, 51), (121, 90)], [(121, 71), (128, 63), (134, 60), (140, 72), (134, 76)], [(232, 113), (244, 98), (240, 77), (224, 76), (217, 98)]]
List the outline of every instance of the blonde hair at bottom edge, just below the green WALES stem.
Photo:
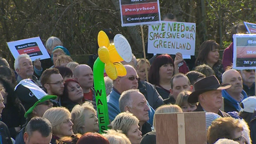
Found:
[(106, 134), (103, 134), (109, 140), (110, 144), (131, 144), (129, 138), (125, 134), (122, 134), (120, 130), (106, 130)]

